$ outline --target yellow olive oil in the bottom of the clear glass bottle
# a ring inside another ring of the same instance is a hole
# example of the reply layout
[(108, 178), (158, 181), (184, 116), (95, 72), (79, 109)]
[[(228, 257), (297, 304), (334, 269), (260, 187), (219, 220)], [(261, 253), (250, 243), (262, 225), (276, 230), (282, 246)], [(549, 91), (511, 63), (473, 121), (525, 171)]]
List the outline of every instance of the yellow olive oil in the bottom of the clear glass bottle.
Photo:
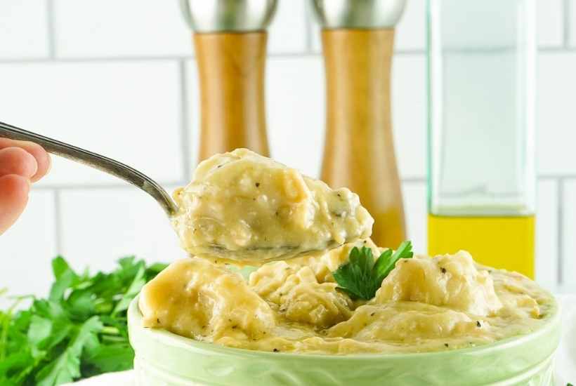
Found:
[(534, 279), (534, 215), (452, 217), (428, 215), (428, 253), (469, 251), (483, 265)]

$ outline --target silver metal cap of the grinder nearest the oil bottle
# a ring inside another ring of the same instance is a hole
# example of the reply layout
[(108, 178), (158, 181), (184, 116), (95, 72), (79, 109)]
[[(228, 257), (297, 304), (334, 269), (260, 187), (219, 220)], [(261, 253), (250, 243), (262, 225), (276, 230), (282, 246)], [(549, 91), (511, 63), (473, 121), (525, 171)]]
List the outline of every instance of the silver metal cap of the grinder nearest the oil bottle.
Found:
[(393, 28), (406, 0), (313, 0), (313, 4), (322, 28), (377, 29)]

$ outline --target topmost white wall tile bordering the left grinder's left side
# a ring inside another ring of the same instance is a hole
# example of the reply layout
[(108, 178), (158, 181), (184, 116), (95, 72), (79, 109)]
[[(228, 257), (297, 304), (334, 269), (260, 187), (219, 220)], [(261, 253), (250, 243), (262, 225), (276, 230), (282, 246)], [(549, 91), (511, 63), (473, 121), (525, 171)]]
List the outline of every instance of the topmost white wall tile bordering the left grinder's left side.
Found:
[(51, 0), (55, 56), (119, 58), (186, 56), (190, 29), (178, 1)]

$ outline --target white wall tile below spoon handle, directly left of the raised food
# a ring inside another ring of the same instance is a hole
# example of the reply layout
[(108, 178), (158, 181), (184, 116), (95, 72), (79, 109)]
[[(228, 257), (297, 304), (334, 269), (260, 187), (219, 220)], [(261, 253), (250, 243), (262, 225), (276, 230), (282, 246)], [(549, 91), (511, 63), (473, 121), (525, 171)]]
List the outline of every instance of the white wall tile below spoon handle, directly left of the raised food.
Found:
[(111, 269), (114, 257), (126, 255), (148, 262), (185, 256), (162, 208), (140, 190), (65, 189), (58, 206), (60, 253), (78, 269)]

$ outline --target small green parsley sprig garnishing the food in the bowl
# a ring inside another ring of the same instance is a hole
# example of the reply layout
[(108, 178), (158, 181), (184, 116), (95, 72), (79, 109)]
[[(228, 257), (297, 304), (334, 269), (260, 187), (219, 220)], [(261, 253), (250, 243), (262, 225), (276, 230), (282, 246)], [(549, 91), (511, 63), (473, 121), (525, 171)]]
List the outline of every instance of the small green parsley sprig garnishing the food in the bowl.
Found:
[(387, 249), (374, 262), (372, 249), (362, 246), (352, 248), (348, 262), (341, 265), (332, 276), (342, 291), (352, 298), (370, 300), (376, 295), (384, 278), (394, 269), (399, 259), (412, 258), (412, 243), (404, 241), (396, 251)]

